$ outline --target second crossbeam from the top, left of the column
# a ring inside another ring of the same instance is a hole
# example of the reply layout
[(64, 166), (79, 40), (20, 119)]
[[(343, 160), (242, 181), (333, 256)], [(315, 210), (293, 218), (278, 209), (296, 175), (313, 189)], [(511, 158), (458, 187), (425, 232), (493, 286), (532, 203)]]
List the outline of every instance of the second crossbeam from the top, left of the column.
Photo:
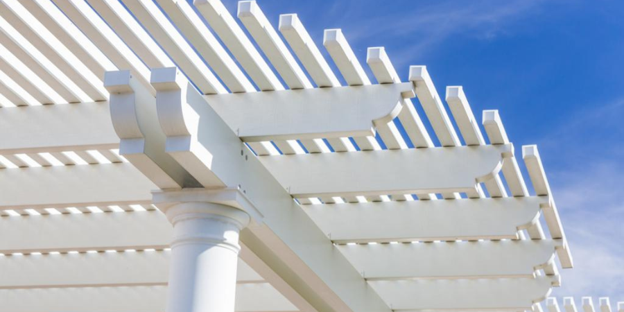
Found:
[(0, 189), (0, 209), (21, 209), (146, 203), (157, 187), (132, 164), (117, 163), (6, 169)]

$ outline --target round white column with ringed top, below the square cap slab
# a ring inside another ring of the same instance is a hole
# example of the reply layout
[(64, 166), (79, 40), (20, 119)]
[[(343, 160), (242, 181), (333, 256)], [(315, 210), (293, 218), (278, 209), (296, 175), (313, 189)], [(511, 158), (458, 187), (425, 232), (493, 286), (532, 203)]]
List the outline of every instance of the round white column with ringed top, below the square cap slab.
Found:
[(240, 209), (183, 202), (166, 209), (173, 224), (166, 312), (234, 312)]

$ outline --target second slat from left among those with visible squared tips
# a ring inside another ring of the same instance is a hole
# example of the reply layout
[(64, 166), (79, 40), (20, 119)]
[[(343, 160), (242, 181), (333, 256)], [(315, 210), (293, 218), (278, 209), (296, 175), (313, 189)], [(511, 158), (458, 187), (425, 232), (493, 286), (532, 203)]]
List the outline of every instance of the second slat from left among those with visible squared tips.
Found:
[(318, 87), (340, 86), (338, 78), (296, 14), (279, 15), (278, 28)]

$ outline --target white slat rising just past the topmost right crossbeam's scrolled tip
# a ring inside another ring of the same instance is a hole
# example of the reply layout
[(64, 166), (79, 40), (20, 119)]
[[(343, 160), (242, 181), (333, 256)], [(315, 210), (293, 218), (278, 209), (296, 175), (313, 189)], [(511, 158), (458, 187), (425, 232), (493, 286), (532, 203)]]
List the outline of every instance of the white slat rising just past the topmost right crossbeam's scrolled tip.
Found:
[(442, 146), (460, 146), (451, 119), (435, 90), (426, 66), (410, 66), (409, 80), (414, 83), (416, 96)]

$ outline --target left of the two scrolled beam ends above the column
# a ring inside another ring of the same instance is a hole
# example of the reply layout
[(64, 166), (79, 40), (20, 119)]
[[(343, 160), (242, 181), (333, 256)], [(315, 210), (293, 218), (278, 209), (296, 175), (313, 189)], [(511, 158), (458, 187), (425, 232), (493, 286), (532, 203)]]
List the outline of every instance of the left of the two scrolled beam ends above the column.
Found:
[(157, 123), (156, 99), (130, 71), (108, 71), (104, 85), (110, 92), (110, 114), (119, 153), (160, 189), (197, 187), (199, 184), (180, 164), (164, 153), (165, 136)]

